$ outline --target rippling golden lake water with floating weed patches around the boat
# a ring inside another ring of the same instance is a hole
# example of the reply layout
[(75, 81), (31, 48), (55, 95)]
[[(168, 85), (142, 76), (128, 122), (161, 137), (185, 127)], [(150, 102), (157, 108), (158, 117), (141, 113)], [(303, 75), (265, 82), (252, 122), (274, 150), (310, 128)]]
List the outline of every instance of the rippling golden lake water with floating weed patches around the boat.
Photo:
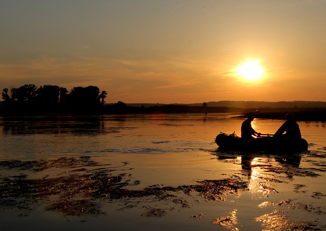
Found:
[(326, 230), (325, 122), (305, 152), (220, 151), (231, 116), (3, 117), (0, 230)]

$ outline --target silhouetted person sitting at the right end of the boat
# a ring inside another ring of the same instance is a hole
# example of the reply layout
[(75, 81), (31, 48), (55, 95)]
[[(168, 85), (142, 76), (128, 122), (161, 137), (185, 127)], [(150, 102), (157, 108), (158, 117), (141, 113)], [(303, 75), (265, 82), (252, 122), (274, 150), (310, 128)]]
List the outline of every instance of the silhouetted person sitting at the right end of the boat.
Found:
[[(274, 137), (285, 137), (290, 139), (301, 139), (301, 132), (299, 125), (293, 119), (291, 113), (286, 114), (285, 119), (287, 121), (275, 132)], [(282, 135), (286, 131), (285, 135)]]

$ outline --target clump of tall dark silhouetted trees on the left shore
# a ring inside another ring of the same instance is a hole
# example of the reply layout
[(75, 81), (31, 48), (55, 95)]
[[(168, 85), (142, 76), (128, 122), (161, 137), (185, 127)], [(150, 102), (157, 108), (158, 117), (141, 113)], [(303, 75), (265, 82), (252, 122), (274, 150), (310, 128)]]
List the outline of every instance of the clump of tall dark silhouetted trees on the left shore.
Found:
[(24, 84), (19, 88), (4, 88), (2, 99), (5, 113), (38, 112), (91, 112), (98, 111), (105, 103), (106, 91), (96, 86), (67, 88), (56, 85)]

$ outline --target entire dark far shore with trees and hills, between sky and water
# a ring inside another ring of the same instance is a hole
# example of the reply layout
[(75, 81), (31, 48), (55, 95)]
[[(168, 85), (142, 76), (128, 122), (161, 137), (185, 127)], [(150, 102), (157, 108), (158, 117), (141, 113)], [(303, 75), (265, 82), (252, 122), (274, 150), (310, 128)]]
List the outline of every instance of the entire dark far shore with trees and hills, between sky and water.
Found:
[[(286, 113), (296, 120), (325, 121), (326, 102), (258, 102), (218, 101), (192, 104), (149, 104), (122, 101), (106, 103), (108, 93), (96, 86), (74, 87), (68, 91), (56, 85), (25, 84), (19, 88), (4, 88), (0, 114), (28, 115), (99, 115), (99, 114), (168, 114), (168, 113), (236, 113), (243, 118), (256, 112), (257, 118), (284, 119)], [(144, 106), (145, 105), (145, 106)], [(251, 107), (250, 107), (251, 106)]]

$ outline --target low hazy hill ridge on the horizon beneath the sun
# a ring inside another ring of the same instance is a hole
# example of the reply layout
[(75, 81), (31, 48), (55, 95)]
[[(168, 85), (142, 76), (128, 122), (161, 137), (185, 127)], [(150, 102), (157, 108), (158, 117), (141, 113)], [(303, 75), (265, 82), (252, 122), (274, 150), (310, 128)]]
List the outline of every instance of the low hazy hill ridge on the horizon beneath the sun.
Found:
[[(150, 106), (162, 106), (162, 105), (186, 105), (186, 106), (202, 106), (202, 103), (126, 103), (127, 106), (132, 107), (150, 107)], [(264, 102), (264, 101), (218, 101), (207, 102), (208, 107), (237, 107), (237, 108), (288, 108), (288, 107), (326, 107), (326, 102), (322, 101), (281, 101), (281, 102)]]

